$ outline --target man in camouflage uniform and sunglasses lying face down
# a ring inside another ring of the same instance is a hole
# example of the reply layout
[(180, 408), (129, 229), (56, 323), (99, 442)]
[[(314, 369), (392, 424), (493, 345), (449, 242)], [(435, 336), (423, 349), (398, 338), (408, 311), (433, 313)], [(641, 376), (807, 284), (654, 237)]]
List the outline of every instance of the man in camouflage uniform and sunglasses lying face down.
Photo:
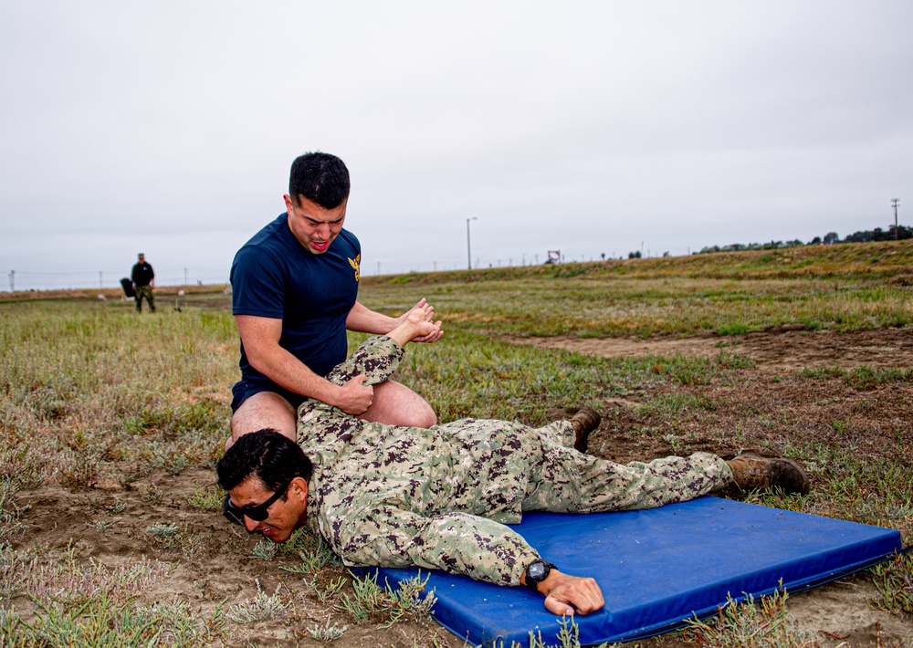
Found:
[[(365, 340), (328, 379), (386, 380), (404, 345), (431, 332), (423, 308), (386, 336)], [(808, 491), (790, 459), (708, 453), (648, 464), (585, 455), (599, 414), (541, 428), (463, 419), (425, 430), (369, 423), (310, 399), (298, 443), (271, 430), (241, 436), (218, 463), (226, 517), (283, 542), (320, 534), (349, 566), (422, 567), (498, 585), (524, 585), (554, 614), (603, 607), (592, 578), (564, 574), (515, 531), (524, 511), (595, 513), (660, 507), (730, 484)]]

